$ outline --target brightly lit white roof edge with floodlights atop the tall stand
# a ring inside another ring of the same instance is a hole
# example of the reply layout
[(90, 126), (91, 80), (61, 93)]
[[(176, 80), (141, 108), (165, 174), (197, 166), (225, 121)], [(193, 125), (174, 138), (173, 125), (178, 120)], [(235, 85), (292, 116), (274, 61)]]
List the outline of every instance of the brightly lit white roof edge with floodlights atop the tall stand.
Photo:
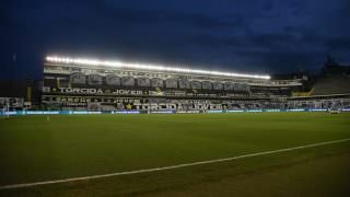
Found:
[(223, 76), (223, 77), (234, 77), (234, 78), (253, 78), (253, 79), (264, 79), (269, 80), (270, 76), (260, 74), (244, 74), (235, 72), (221, 72), (221, 71), (210, 71), (210, 70), (199, 70), (199, 69), (187, 69), (178, 67), (166, 67), (162, 65), (148, 65), (148, 63), (135, 63), (135, 62), (124, 62), (124, 61), (104, 61), (98, 59), (85, 59), (85, 58), (69, 58), (69, 57), (58, 57), (58, 56), (47, 56), (46, 60), (48, 62), (66, 63), (66, 65), (83, 65), (83, 66), (95, 66), (95, 67), (114, 67), (114, 68), (129, 68), (129, 69), (141, 69), (141, 70), (154, 70), (154, 71), (170, 71), (170, 72), (180, 72), (180, 73), (196, 73), (196, 74), (209, 74), (209, 76)]

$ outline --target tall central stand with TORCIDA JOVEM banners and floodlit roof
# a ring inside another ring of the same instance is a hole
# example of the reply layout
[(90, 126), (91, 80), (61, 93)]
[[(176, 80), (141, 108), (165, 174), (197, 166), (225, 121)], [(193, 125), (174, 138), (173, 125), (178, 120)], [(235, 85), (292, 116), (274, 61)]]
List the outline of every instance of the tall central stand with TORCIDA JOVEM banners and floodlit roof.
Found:
[(303, 79), (49, 56), (42, 103), (46, 109), (142, 113), (281, 108), (302, 89)]

